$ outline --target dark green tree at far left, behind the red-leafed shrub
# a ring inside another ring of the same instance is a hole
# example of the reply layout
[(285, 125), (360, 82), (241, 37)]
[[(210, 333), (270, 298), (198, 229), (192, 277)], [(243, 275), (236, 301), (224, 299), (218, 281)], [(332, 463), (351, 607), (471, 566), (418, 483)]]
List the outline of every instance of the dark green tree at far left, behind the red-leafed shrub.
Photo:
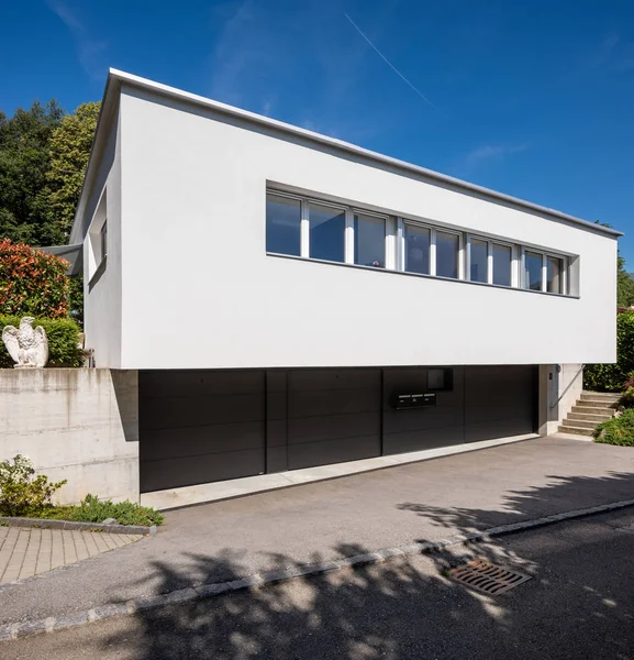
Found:
[(19, 108), (10, 119), (0, 111), (0, 239), (51, 245), (46, 173), (49, 140), (64, 111), (55, 100)]

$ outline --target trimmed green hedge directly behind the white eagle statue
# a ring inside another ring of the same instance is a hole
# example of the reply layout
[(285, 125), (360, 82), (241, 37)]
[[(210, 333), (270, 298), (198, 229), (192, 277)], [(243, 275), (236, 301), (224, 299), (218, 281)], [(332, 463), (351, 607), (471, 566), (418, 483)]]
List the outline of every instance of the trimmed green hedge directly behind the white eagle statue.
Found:
[[(0, 316), (0, 334), (4, 326), (20, 326), (21, 317)], [(79, 346), (79, 326), (70, 319), (35, 319), (33, 327), (42, 326), (48, 338), (49, 366), (81, 366), (84, 350)], [(0, 341), (0, 367), (12, 367), (13, 360)]]

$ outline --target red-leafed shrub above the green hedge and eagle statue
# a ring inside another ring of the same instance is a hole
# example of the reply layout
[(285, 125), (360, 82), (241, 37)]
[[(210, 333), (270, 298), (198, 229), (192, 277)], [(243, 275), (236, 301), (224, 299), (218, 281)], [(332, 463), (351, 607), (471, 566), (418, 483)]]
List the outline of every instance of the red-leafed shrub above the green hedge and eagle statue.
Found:
[(0, 240), (0, 314), (58, 319), (68, 316), (68, 262)]

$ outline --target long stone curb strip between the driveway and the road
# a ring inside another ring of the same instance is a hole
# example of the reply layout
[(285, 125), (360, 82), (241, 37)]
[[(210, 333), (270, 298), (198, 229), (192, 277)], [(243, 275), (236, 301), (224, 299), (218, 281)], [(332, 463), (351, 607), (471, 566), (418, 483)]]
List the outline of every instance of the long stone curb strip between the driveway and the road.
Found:
[(255, 590), (262, 586), (266, 586), (268, 584), (286, 582), (288, 580), (294, 580), (297, 578), (319, 575), (322, 573), (338, 571), (351, 566), (380, 563), (394, 557), (414, 557), (416, 554), (443, 550), (452, 546), (486, 541), (493, 537), (503, 536), (515, 531), (524, 531), (526, 529), (544, 527), (546, 525), (563, 522), (565, 520), (571, 520), (575, 518), (585, 518), (587, 516), (604, 514), (608, 512), (622, 509), (629, 506), (634, 506), (634, 499), (624, 499), (621, 502), (603, 504), (591, 508), (565, 512), (563, 514), (546, 516), (545, 518), (535, 518), (533, 520), (524, 520), (522, 522), (514, 522), (511, 525), (500, 525), (499, 527), (491, 527), (482, 531), (474, 531), (471, 534), (466, 535), (457, 535), (435, 542), (414, 542), (409, 546), (387, 548), (383, 550), (377, 550), (376, 552), (368, 552), (365, 554), (355, 554), (345, 559), (336, 559), (316, 564), (304, 564), (300, 566), (292, 566), (290, 569), (280, 569), (275, 571), (267, 571), (264, 573), (255, 573), (253, 575), (246, 575), (245, 578), (232, 580), (230, 582), (203, 584), (201, 586), (173, 591), (168, 594), (159, 594), (157, 596), (148, 596), (145, 598), (135, 598), (132, 601), (127, 601), (126, 603), (101, 605), (99, 607), (93, 607), (92, 609), (78, 612), (76, 614), (66, 614), (58, 617), (47, 617), (44, 619), (36, 619), (32, 622), (4, 624), (0, 626), (0, 641), (9, 641), (12, 639), (19, 639), (21, 637), (26, 637), (31, 635), (40, 635), (42, 632), (56, 632), (57, 630), (76, 628), (77, 626), (84, 626), (86, 624), (99, 622), (101, 619), (110, 618), (112, 616), (135, 614), (145, 609), (153, 609), (166, 605), (175, 605), (178, 603), (187, 603), (202, 598), (210, 598), (230, 592)]

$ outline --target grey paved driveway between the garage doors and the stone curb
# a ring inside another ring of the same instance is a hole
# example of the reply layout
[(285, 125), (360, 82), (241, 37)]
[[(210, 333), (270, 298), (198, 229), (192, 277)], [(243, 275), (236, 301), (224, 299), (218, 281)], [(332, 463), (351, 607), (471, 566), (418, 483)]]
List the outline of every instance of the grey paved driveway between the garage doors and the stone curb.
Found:
[(632, 498), (634, 452), (544, 438), (171, 512), (116, 553), (0, 587), (0, 624)]

